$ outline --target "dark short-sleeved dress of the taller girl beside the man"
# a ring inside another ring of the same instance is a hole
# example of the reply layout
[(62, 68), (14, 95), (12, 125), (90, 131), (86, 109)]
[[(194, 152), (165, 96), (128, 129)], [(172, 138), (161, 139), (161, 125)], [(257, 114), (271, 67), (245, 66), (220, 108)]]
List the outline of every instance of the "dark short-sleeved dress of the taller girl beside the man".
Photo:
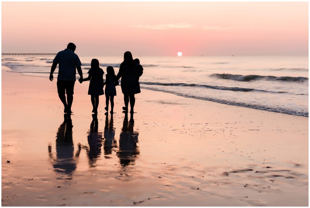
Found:
[(103, 95), (103, 74), (104, 71), (100, 68), (90, 69), (88, 74), (91, 75), (91, 81), (89, 83), (88, 94), (89, 95)]

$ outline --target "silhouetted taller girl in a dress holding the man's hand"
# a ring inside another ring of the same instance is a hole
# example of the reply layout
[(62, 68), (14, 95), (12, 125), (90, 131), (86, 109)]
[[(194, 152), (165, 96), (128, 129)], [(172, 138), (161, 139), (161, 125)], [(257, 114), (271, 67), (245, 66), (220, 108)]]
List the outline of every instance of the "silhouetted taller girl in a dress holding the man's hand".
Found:
[(91, 95), (91, 104), (93, 105), (93, 110), (91, 112), (98, 113), (99, 105), (99, 95), (103, 95), (103, 74), (104, 71), (99, 67), (98, 59), (91, 60), (91, 69), (87, 72), (89, 75), (87, 78), (82, 79), (83, 81), (91, 80), (89, 83), (88, 94)]

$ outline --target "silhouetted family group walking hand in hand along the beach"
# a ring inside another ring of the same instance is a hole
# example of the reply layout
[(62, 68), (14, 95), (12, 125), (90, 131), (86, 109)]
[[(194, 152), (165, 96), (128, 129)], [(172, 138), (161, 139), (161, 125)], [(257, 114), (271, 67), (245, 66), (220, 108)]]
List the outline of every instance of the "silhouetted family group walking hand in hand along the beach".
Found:
[[(106, 107), (108, 111), (109, 101), (111, 102), (111, 113), (113, 113), (114, 96), (116, 96), (116, 88), (118, 80), (121, 79), (122, 93), (124, 94), (124, 111), (128, 111), (130, 103), (130, 113), (134, 112), (135, 94), (140, 93), (139, 77), (143, 74), (143, 67), (140, 65), (139, 59), (133, 60), (131, 52), (124, 53), (124, 61), (121, 63), (118, 74), (115, 75), (112, 66), (107, 67), (106, 80), (104, 82), (104, 71), (100, 69), (97, 59), (91, 60), (91, 69), (88, 71), (88, 77), (83, 79), (81, 61), (77, 54), (74, 53), (76, 46), (69, 43), (67, 48), (57, 53), (51, 67), (50, 80), (53, 80), (53, 72), (59, 65), (57, 76), (57, 91), (61, 102), (64, 104), (64, 112), (72, 113), (71, 106), (73, 102), (73, 88), (76, 80), (76, 70), (80, 75), (79, 82), (90, 80), (88, 94), (91, 95), (92, 112), (97, 114), (99, 105), (99, 96), (105, 94)], [(105, 85), (105, 90), (103, 90)], [(67, 94), (67, 100), (66, 96)]]

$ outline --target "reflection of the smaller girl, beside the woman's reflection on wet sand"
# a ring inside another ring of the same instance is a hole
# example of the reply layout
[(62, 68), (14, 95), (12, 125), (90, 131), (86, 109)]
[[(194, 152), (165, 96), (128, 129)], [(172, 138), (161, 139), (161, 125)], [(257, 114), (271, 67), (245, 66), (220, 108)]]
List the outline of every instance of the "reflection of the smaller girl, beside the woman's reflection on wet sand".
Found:
[(109, 158), (107, 155), (112, 154), (112, 150), (117, 147), (115, 136), (115, 128), (113, 128), (113, 113), (111, 114), (111, 120), (109, 124), (108, 114), (105, 117), (105, 126), (104, 126), (104, 155), (105, 158)]

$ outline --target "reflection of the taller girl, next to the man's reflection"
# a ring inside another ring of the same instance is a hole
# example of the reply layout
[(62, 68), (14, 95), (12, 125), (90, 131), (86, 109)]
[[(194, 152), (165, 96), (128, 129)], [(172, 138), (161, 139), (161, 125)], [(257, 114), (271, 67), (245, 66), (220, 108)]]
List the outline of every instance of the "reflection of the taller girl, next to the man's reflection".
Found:
[(89, 147), (83, 146), (86, 149), (88, 163), (90, 167), (94, 167), (97, 158), (101, 154), (102, 132), (98, 133), (98, 118), (95, 114), (92, 115), (91, 127), (88, 132), (87, 140)]

